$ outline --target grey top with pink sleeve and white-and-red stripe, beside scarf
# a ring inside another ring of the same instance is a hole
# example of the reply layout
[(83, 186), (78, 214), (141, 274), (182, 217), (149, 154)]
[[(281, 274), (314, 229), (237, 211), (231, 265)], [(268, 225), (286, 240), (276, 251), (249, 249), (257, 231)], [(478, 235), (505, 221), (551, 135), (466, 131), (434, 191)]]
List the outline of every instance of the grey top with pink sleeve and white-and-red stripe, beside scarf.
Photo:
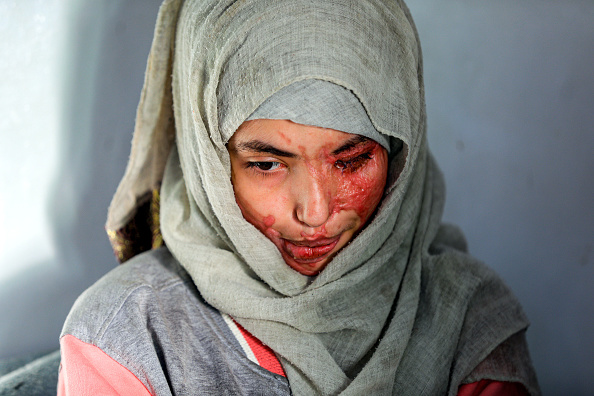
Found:
[(286, 378), (248, 359), (166, 248), (87, 289), (60, 344), (61, 396), (290, 394)]

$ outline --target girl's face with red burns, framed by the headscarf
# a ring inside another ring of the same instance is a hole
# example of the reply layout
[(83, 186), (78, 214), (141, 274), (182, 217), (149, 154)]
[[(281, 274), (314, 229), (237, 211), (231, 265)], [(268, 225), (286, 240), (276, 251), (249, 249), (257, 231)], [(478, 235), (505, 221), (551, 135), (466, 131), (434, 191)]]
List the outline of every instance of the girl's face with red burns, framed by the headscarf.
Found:
[(333, 129), (246, 121), (228, 150), (243, 217), (304, 275), (319, 273), (363, 228), (386, 185), (386, 150)]

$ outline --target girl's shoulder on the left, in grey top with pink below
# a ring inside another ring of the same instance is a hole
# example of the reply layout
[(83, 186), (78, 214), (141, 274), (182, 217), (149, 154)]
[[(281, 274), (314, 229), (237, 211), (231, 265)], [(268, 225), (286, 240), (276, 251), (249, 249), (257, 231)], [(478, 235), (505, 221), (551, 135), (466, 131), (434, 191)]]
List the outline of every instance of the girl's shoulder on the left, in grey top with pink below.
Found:
[[(114, 268), (80, 295), (66, 318), (62, 353), (70, 352), (69, 361), (77, 362), (68, 372), (84, 358), (93, 367), (90, 372), (102, 373), (103, 379), (106, 373), (117, 372), (117, 377), (129, 372), (151, 393), (166, 391), (167, 373), (160, 359), (175, 348), (169, 335), (193, 319), (176, 315), (176, 309), (183, 312), (185, 306), (208, 309), (167, 249), (143, 253)], [(91, 377), (83, 382), (92, 382)]]

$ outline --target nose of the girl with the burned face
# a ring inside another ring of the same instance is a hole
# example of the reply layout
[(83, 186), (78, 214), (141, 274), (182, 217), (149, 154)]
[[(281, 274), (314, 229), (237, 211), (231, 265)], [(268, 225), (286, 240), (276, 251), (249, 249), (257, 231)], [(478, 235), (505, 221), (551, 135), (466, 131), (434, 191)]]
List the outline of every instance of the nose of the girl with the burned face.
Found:
[(308, 180), (297, 188), (297, 220), (310, 228), (324, 225), (332, 213), (332, 197), (327, 183), (322, 178), (312, 177), (310, 174)]

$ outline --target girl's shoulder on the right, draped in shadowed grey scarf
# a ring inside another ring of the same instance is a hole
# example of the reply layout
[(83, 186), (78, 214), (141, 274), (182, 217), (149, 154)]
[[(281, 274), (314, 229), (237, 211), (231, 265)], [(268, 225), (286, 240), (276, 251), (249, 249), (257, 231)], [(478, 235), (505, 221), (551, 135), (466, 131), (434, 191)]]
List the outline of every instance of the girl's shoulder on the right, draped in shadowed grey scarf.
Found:
[[(491, 268), (455, 249), (429, 256), (422, 272), (420, 304), (420, 310), (430, 315), (428, 321), (450, 318), (449, 337), (457, 340), (450, 350), (451, 384), (472, 377), (473, 381), (520, 382), (527, 389), (537, 389), (524, 339), (528, 320), (513, 292)], [(445, 332), (438, 324), (436, 337)], [(492, 358), (502, 348), (507, 359), (499, 360), (505, 364)], [(477, 370), (486, 361), (489, 370)]]

